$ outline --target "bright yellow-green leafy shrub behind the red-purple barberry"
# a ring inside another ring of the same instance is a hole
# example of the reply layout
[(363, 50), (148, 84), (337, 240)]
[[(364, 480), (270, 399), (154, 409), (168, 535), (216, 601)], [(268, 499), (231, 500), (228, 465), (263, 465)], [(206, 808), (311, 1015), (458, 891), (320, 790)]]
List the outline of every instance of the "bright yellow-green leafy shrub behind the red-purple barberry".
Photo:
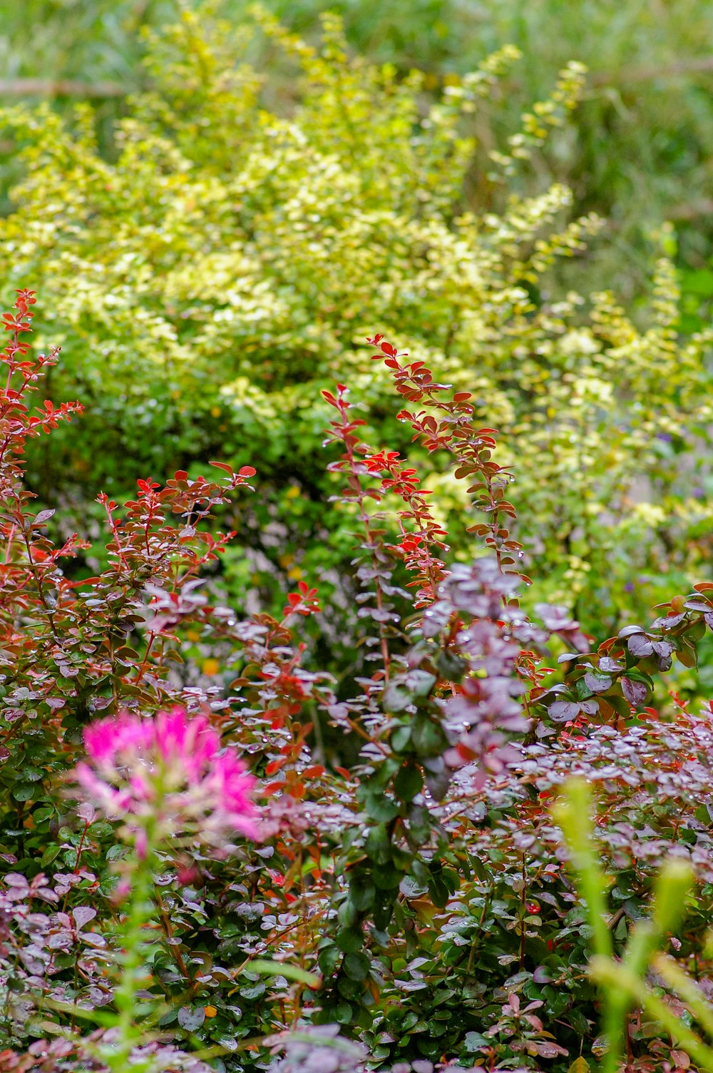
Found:
[[(246, 61), (255, 32), (287, 58), (294, 77), (277, 89)], [(639, 330), (609, 294), (548, 293), (553, 260), (600, 227), (567, 222), (566, 188), (513, 196), (502, 216), (462, 209), (461, 115), (517, 59), (502, 49), (428, 105), (419, 73), (350, 59), (333, 18), (315, 50), (264, 12), (236, 31), (206, 8), (151, 39), (152, 89), (131, 102), (112, 159), (87, 107), (72, 121), (5, 111), (25, 168), (0, 222), (5, 289), (40, 292), (63, 346), (53, 391), (83, 398), (95, 435), (92, 457), (63, 458), (61, 474), (45, 459), (51, 481), (93, 494), (125, 480), (125, 455), (162, 476), (223, 451), (277, 487), (251, 538), (265, 569), (279, 549), (314, 576), (346, 543), (324, 505), (320, 388), (345, 380), (378, 412), (386, 372), (365, 337), (382, 332), (474, 391), (501, 429), (538, 598), (577, 602), (591, 621), (613, 597), (622, 606), (625, 583), (694, 569), (708, 536), (689, 538), (711, 515), (696, 451), (709, 340), (677, 339), (670, 263)], [(494, 166), (540, 146), (582, 82), (578, 64), (562, 72)], [(459, 514), (451, 479), (436, 468), (431, 483)], [(652, 596), (644, 585), (643, 604)], [(636, 606), (636, 592), (623, 599)]]

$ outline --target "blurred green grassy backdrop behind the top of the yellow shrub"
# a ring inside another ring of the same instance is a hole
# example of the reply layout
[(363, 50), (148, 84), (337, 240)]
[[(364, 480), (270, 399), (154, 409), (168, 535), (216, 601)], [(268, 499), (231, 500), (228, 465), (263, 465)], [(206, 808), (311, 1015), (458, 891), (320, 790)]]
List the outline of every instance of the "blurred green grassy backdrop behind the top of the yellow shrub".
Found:
[[(176, 18), (195, 0), (28, 0), (0, 10), (0, 70), (6, 91), (19, 79), (83, 83), (94, 103), (100, 136), (110, 143), (110, 120), (124, 111), (127, 92), (146, 85), (143, 30)], [(224, 0), (233, 23), (244, 20), (250, 0)], [(586, 64), (582, 102), (547, 160), (521, 177), (533, 185), (563, 180), (578, 211), (607, 217), (606, 244), (586, 267), (589, 286), (613, 286), (623, 298), (645, 290), (649, 239), (671, 220), (679, 263), (686, 269), (688, 319), (713, 296), (713, 8), (707, 0), (266, 0), (285, 27), (314, 42), (320, 15), (338, 12), (350, 45), (404, 74), (417, 68), (436, 93), (503, 45), (523, 54), (490, 105), (474, 120), (480, 146), (493, 148), (517, 128), (523, 107), (547, 97), (553, 74), (568, 60)], [(280, 79), (270, 49), (252, 58)], [(64, 83), (62, 87), (61, 83)], [(14, 84), (14, 85), (13, 85)], [(74, 87), (69, 87), (74, 88)], [(60, 92), (57, 92), (59, 90)], [(117, 95), (104, 97), (109, 92)], [(499, 189), (476, 182), (477, 208)]]

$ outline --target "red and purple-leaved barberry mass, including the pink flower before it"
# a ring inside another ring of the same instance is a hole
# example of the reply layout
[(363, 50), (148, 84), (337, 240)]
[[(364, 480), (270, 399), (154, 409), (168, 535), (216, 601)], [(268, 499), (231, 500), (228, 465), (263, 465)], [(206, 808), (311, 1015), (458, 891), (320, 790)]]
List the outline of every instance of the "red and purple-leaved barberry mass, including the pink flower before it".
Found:
[[(253, 467), (147, 477), (122, 508), (101, 495), (108, 565), (72, 579), (76, 539), (43, 534), (23, 484), (28, 441), (79, 409), (30, 408), (58, 357), (32, 356), (33, 305), (21, 291), (4, 318), (0, 391), (0, 1069), (596, 1060), (591, 928), (549, 808), (573, 774), (598, 792), (610, 955), (672, 854), (696, 883), (665, 937), (671, 994), (686, 972), (713, 988), (713, 707), (654, 695), (674, 660), (695, 667), (713, 583), (598, 646), (564, 607), (529, 617), (496, 432), (383, 336), (398, 418), (477, 519), (474, 559), (454, 560), (418, 467), (365, 440), (345, 385), (325, 389), (356, 530), (358, 680), (320, 670), (307, 582), (279, 617), (200, 591), (234, 535), (206, 520)], [(356, 764), (327, 761), (328, 724), (359, 743)], [(655, 1018), (627, 1017), (633, 1068), (686, 1068)]]

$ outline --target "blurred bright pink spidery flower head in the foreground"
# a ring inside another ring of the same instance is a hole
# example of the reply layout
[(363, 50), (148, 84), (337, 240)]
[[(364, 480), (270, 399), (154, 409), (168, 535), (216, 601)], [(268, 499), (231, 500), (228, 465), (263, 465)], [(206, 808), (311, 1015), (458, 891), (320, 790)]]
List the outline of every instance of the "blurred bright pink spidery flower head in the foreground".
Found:
[(235, 748), (221, 749), (204, 716), (188, 718), (178, 707), (153, 719), (123, 711), (87, 726), (84, 743), (89, 762), (77, 765), (76, 781), (106, 815), (125, 819), (139, 852), (148, 821), (160, 838), (258, 837), (255, 780)]

